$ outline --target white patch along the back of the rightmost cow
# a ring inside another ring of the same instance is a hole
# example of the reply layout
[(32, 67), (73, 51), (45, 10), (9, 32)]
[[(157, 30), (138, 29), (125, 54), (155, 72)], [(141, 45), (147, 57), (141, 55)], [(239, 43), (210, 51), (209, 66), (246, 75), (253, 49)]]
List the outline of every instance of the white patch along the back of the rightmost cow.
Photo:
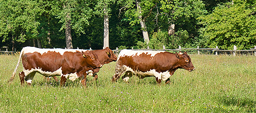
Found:
[[(158, 53), (163, 53), (165, 51), (150, 51), (150, 50), (122, 50), (120, 51), (118, 55), (118, 59), (122, 56), (135, 56), (135, 55), (141, 55), (141, 54), (146, 54), (150, 55), (151, 57), (155, 56)], [(117, 59), (117, 60), (118, 60)]]

